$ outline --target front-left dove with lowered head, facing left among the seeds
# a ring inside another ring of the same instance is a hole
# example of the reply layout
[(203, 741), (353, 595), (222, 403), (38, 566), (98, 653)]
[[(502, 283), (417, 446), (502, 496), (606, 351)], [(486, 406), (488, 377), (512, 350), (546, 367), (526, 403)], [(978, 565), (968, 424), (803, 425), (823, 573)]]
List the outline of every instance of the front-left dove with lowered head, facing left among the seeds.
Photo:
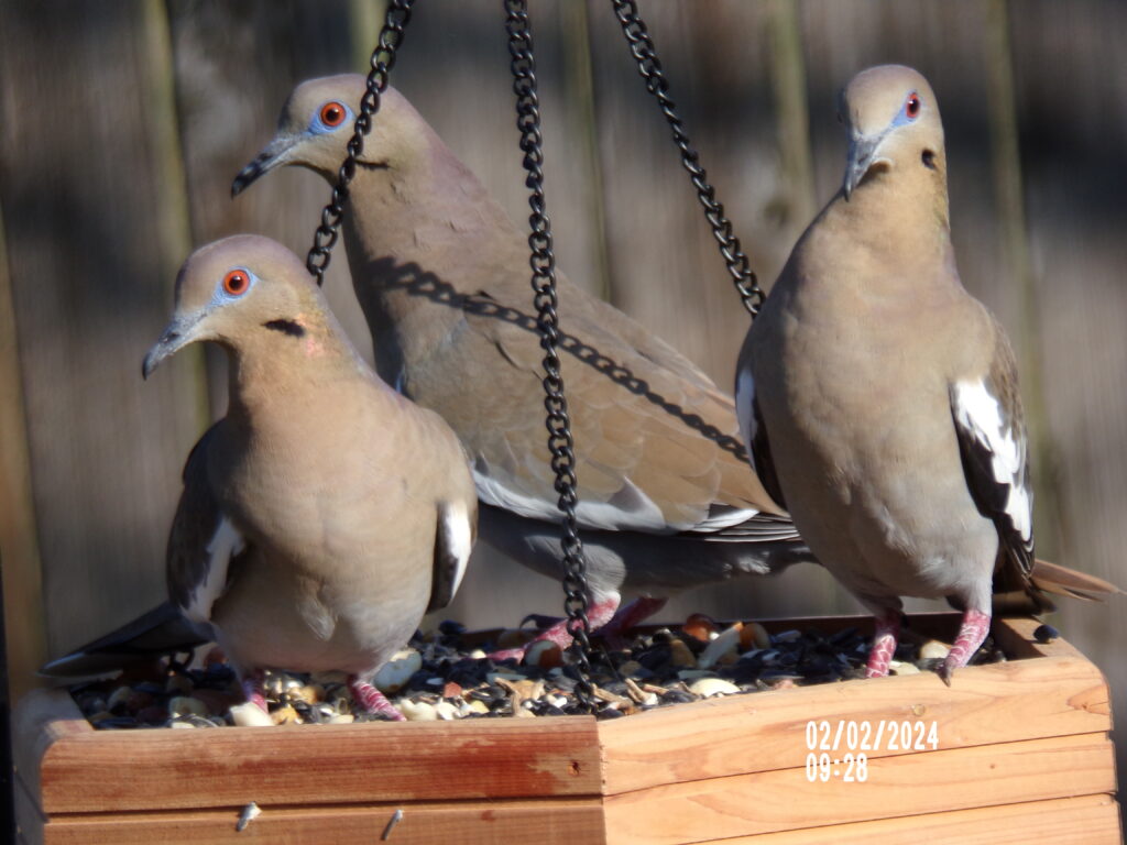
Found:
[(197, 340), (227, 349), (230, 406), (184, 470), (172, 605), (211, 626), (259, 705), (265, 668), (343, 671), (364, 709), (402, 718), (366, 679), (462, 578), (477, 512), (464, 451), (371, 371), (269, 239), (187, 259), (144, 375)]

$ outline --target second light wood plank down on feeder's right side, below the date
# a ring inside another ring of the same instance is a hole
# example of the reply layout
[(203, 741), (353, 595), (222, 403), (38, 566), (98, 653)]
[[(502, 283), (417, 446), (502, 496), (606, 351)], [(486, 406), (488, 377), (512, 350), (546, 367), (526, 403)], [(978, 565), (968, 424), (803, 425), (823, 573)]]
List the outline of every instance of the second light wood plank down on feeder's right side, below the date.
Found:
[[(805, 768), (734, 775), (609, 795), (614, 845), (712, 838), (1111, 793), (1115, 748), (1104, 733), (999, 742), (869, 760), (864, 783), (811, 784)], [(816, 797), (816, 798), (815, 798)]]

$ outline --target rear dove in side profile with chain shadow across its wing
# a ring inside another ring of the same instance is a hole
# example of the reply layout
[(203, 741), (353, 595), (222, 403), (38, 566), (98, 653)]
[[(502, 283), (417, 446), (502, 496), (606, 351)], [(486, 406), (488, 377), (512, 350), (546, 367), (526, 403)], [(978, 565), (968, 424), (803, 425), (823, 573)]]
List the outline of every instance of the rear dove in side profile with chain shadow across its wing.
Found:
[[(356, 74), (299, 86), (232, 192), (279, 164), (334, 181), (363, 92)], [(458, 433), (482, 537), (559, 577), (527, 234), (392, 89), (348, 196), (345, 244), (376, 370)], [(747, 472), (729, 397), (625, 314), (562, 274), (558, 285), (593, 625), (611, 619), (623, 586), (660, 593), (808, 559)], [(562, 625), (549, 637), (570, 639)]]

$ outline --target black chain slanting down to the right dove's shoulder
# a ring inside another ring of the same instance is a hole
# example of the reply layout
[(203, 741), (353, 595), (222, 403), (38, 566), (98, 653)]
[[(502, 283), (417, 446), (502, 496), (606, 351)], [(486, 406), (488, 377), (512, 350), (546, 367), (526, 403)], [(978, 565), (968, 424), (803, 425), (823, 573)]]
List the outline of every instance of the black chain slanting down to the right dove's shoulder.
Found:
[(673, 130), (673, 140), (681, 150), (681, 163), (689, 171), (690, 181), (696, 188), (696, 198), (704, 206), (704, 217), (712, 228), (712, 235), (720, 244), (724, 264), (731, 274), (733, 283), (739, 293), (739, 299), (752, 319), (760, 312), (766, 294), (760, 288), (760, 282), (752, 272), (747, 256), (739, 239), (731, 231), (731, 221), (724, 214), (724, 206), (716, 198), (716, 189), (708, 183), (708, 174), (700, 164), (700, 155), (692, 148), (685, 125), (677, 116), (676, 104), (669, 97), (669, 83), (662, 72), (662, 62), (657, 59), (657, 50), (649, 37), (646, 24), (638, 14), (635, 0), (611, 0), (614, 14), (622, 24), (622, 33), (630, 45), (630, 52), (638, 62), (638, 72), (646, 80), (646, 89), (653, 94), (662, 108), (662, 114)]

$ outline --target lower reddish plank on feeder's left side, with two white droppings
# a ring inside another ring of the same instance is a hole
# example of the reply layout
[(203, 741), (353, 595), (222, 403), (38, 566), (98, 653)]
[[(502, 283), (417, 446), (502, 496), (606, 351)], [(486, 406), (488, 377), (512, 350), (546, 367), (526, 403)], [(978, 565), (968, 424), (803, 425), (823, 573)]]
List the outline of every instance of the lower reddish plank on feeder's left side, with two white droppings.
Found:
[(402, 812), (387, 840), (394, 845), (492, 845), (526, 842), (552, 845), (597, 845), (605, 842), (597, 798), (472, 801), (465, 803), (394, 803), (379, 807), (272, 808), (236, 831), (239, 809), (198, 812), (64, 816), (44, 830), (45, 845), (151, 845), (181, 842), (190, 829), (193, 845), (270, 843), (270, 845), (341, 845), (374, 843), (396, 810)]

